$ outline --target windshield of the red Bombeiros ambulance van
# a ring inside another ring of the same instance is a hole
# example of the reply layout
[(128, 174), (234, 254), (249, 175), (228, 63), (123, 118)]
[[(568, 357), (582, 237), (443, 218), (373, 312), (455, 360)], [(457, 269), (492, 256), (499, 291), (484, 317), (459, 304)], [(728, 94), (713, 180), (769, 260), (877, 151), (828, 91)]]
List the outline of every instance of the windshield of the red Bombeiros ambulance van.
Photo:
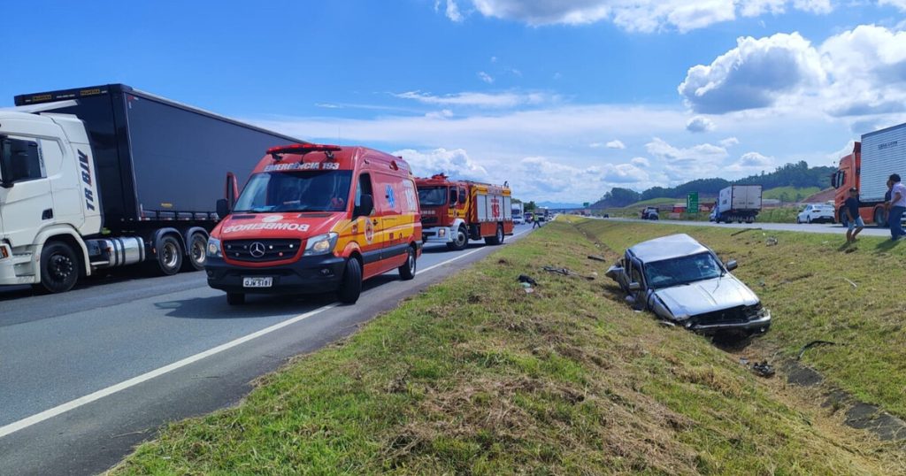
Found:
[(256, 173), (242, 190), (234, 212), (342, 211), (351, 180), (352, 170)]

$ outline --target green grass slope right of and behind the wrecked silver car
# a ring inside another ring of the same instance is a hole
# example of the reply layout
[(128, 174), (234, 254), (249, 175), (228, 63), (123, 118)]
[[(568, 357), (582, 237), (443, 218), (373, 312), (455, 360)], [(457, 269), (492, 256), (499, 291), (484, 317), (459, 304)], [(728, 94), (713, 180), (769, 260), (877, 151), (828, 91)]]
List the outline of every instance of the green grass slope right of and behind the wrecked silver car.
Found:
[[(864, 402), (906, 418), (906, 245), (864, 237), (846, 247), (842, 235), (754, 230), (733, 236), (737, 230), (602, 220), (579, 226), (613, 249), (681, 232), (736, 258), (735, 274), (773, 312), (767, 343), (787, 356), (815, 339), (843, 344), (810, 350), (804, 361)], [(767, 246), (768, 237), (778, 244)]]

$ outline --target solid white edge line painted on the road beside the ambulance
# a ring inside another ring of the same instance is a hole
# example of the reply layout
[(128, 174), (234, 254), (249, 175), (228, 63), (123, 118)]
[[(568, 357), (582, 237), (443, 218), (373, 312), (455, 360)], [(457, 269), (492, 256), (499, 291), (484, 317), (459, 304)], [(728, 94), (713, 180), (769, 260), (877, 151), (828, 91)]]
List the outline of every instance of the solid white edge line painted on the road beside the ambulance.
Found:
[[(528, 231), (530, 231), (530, 230), (525, 230), (521, 233), (517, 233), (517, 234), (513, 235), (513, 237), (517, 237)], [(458, 259), (462, 259), (464, 257), (467, 257), (468, 255), (471, 255), (472, 253), (477, 253), (478, 251), (482, 251), (482, 250), (487, 250), (487, 248), (477, 248), (477, 249), (473, 249), (472, 251), (468, 251), (467, 253), (462, 253), (462, 254), (458, 255), (457, 257), (451, 257), (450, 259), (443, 261), (441, 263), (438, 263), (434, 266), (422, 269), (421, 273), (427, 273), (431, 269), (434, 269), (436, 267), (442, 267), (444, 265), (448, 265)], [(268, 335), (276, 330), (284, 328), (287, 325), (294, 325), (295, 323), (297, 323), (299, 321), (307, 319), (311, 316), (321, 314), (324, 311), (333, 309), (336, 306), (339, 306), (339, 305), (331, 304), (331, 305), (327, 305), (327, 306), (323, 306), (323, 307), (318, 307), (317, 309), (314, 309), (313, 311), (308, 311), (307, 313), (300, 314), (299, 316), (290, 317), (289, 319), (287, 319), (285, 321), (279, 322), (275, 325), (271, 325), (270, 327), (265, 327), (264, 329), (261, 329), (260, 331), (256, 331), (252, 334), (244, 335), (244, 336), (234, 339), (230, 342), (227, 342), (226, 344), (217, 345), (217, 347), (207, 349), (206, 351), (198, 353), (196, 355), (190, 355), (182, 360), (174, 362), (173, 364), (164, 365), (162, 367), (159, 367), (158, 369), (152, 370), (145, 374), (140, 374), (138, 376), (130, 378), (129, 380), (124, 380), (124, 381), (120, 382), (119, 384), (113, 384), (107, 388), (102, 388), (101, 390), (99, 390), (97, 392), (89, 393), (85, 396), (76, 398), (75, 400), (71, 400), (71, 401), (63, 403), (61, 405), (57, 405), (51, 409), (44, 410), (41, 413), (35, 413), (34, 415), (29, 416), (27, 418), (23, 418), (22, 420), (19, 420), (17, 422), (9, 423), (5, 426), (0, 426), (0, 438), (3, 438), (4, 436), (6, 436), (8, 434), (18, 432), (19, 430), (24, 430), (25, 428), (28, 428), (29, 426), (32, 426), (36, 423), (41, 423), (44, 420), (49, 420), (49, 419), (53, 418), (54, 416), (61, 415), (63, 413), (69, 412), (71, 410), (75, 410), (76, 408), (79, 408), (82, 405), (86, 405), (88, 403), (92, 403), (97, 400), (101, 400), (101, 398), (110, 396), (113, 393), (118, 393), (118, 392), (126, 390), (130, 387), (134, 387), (135, 385), (142, 384), (144, 382), (148, 382), (149, 380), (151, 380), (154, 377), (159, 377), (160, 375), (163, 375), (163, 374), (169, 374), (170, 372), (173, 372), (174, 370), (178, 370), (182, 367), (185, 367), (188, 364), (194, 364), (194, 363), (198, 362), (199, 360), (209, 357), (211, 355), (220, 354), (221, 352), (224, 352), (233, 347), (236, 347), (236, 345), (245, 344), (246, 342), (248, 342), (252, 339), (261, 337), (262, 335)]]

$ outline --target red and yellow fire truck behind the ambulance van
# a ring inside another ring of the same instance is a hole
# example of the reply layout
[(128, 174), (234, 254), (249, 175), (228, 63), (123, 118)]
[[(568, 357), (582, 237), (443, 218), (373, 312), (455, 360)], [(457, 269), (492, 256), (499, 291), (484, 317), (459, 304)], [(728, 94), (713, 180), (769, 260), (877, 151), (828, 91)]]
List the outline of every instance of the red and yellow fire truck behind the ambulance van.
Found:
[(506, 184), (448, 180), (443, 174), (416, 179), (421, 207), (422, 239), (466, 248), (469, 239), (499, 245), (513, 234), (511, 192)]

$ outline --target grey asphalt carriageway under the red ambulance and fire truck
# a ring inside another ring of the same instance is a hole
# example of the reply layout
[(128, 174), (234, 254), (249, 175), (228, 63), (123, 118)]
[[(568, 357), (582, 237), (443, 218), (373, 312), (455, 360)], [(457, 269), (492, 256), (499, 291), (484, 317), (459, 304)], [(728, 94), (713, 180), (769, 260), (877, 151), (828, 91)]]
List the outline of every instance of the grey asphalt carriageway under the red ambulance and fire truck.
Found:
[[(528, 231), (517, 226), (505, 246)], [(415, 279), (372, 278), (354, 306), (333, 296), (227, 306), (200, 272), (124, 269), (62, 295), (0, 289), (0, 474), (104, 471), (161, 424), (238, 403), (255, 377), (496, 249), (428, 246)]]

